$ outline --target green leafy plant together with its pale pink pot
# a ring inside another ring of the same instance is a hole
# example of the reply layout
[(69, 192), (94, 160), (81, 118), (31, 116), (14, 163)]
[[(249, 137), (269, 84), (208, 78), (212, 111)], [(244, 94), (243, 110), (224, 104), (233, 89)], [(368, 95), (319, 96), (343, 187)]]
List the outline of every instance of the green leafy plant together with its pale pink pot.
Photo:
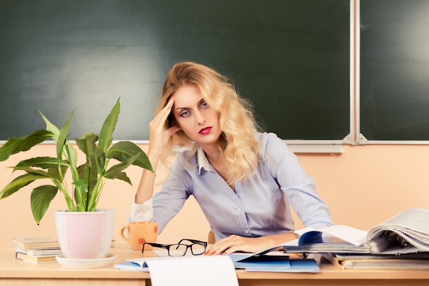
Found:
[[(10, 138), (0, 147), (0, 161), (3, 161), (12, 154), (27, 151), (47, 139), (56, 142), (56, 158), (49, 156), (29, 158), (21, 160), (13, 167), (14, 171), (24, 171), (25, 174), (14, 178), (0, 191), (0, 200), (28, 184), (42, 180), (43, 183), (34, 187), (30, 197), (32, 213), (36, 223), (39, 224), (51, 200), (58, 193), (62, 193), (67, 209), (56, 211), (56, 227), (60, 246), (66, 258), (105, 257), (112, 241), (114, 210), (98, 209), (97, 203), (106, 180), (119, 179), (131, 184), (130, 178), (124, 172), (130, 165), (153, 171), (145, 152), (136, 144), (130, 141), (112, 144), (112, 133), (117, 124), (119, 110), (118, 99), (99, 134), (86, 132), (81, 138), (75, 138), (77, 147), (86, 155), (86, 161), (79, 166), (77, 150), (67, 138), (74, 111), (61, 129), (54, 126), (39, 111), (46, 123), (46, 129), (36, 130), (27, 136)], [(70, 176), (72, 183), (68, 184), (66, 178)], [(46, 179), (51, 183), (46, 184)], [(75, 218), (71, 215), (75, 215)], [(96, 217), (95, 224), (98, 226), (87, 225), (90, 215)]]

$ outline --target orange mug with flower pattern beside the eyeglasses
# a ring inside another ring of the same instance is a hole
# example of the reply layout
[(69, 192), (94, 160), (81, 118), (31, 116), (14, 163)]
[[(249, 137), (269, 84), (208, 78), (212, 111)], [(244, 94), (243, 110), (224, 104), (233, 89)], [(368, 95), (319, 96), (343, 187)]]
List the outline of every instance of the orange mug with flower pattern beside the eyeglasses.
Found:
[[(124, 230), (128, 231), (128, 238), (123, 235)], [(143, 250), (145, 242), (156, 242), (158, 237), (157, 222), (129, 222), (121, 228), (120, 235), (124, 241), (130, 243), (132, 249)], [(145, 250), (151, 250), (152, 246), (146, 245)]]

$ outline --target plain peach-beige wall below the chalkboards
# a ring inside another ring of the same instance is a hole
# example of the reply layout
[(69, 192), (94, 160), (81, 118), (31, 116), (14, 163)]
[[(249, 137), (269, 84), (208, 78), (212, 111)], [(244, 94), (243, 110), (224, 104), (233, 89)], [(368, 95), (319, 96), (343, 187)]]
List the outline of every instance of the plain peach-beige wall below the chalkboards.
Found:
[[(146, 145), (142, 145), (145, 150)], [(53, 145), (38, 145), (27, 154), (16, 154), (0, 163), (0, 188), (12, 176), (6, 167), (29, 156), (53, 156)], [(23, 156), (25, 155), (25, 156)], [(336, 224), (368, 229), (404, 208), (429, 208), (428, 145), (358, 145), (344, 146), (343, 154), (298, 154), (302, 166), (317, 184), (319, 195), (330, 206)], [(114, 238), (121, 241), (119, 228), (127, 223), (130, 202), (140, 178), (140, 169), (127, 171), (133, 187), (125, 182), (109, 181), (99, 207), (114, 208)], [(158, 170), (164, 178), (165, 169)], [(157, 187), (157, 190), (160, 186)], [(0, 245), (12, 246), (13, 237), (56, 235), (53, 211), (66, 207), (57, 195), (39, 226), (29, 206), (31, 188), (0, 201)], [(297, 228), (302, 227), (295, 219)], [(209, 227), (199, 206), (189, 200), (182, 212), (170, 222), (158, 241), (174, 243), (181, 238), (206, 239)]]

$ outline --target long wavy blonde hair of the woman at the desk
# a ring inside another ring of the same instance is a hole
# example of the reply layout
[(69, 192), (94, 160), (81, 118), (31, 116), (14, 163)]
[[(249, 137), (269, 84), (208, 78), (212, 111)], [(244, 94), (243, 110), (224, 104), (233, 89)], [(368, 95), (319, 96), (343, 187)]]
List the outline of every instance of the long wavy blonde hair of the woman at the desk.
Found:
[[(222, 134), (218, 147), (222, 151), (226, 169), (230, 171), (230, 178), (239, 182), (253, 176), (260, 158), (260, 145), (255, 139), (259, 126), (254, 119), (252, 104), (237, 94), (224, 75), (202, 64), (179, 62), (167, 74), (156, 114), (180, 87), (186, 85), (197, 86), (210, 108), (219, 112)], [(175, 124), (177, 123), (171, 113), (164, 128)], [(164, 149), (163, 158), (177, 147), (192, 150), (188, 160), (197, 150), (195, 142), (180, 130), (171, 136)]]

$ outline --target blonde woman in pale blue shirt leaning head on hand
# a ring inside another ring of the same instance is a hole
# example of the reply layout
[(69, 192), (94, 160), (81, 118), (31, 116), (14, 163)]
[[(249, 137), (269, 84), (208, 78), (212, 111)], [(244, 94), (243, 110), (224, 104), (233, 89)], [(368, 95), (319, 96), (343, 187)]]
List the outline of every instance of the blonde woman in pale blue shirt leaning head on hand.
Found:
[(163, 156), (181, 151), (153, 197), (155, 176), (143, 171), (132, 221), (154, 220), (161, 232), (193, 195), (216, 237), (206, 254), (259, 252), (295, 239), (291, 207), (304, 226), (332, 225), (297, 157), (278, 136), (258, 131), (251, 105), (217, 71), (175, 64), (149, 130), (154, 170)]

